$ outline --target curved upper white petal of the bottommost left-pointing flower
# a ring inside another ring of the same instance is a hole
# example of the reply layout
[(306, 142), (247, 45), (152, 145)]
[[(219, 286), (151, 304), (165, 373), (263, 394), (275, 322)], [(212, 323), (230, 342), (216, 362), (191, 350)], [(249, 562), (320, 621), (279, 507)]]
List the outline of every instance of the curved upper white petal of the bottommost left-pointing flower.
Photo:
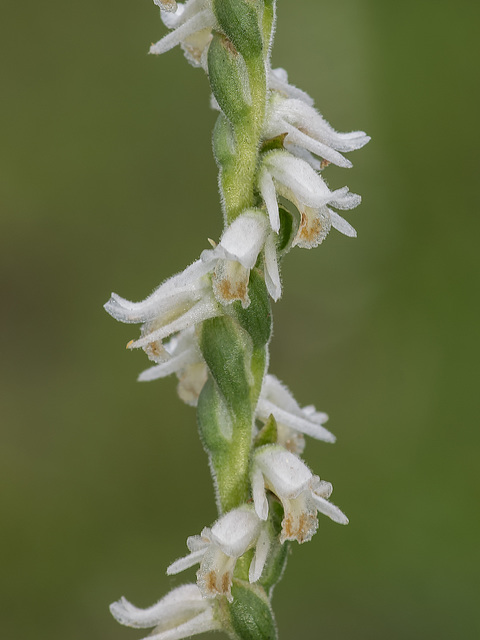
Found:
[(115, 620), (135, 629), (147, 629), (160, 622), (168, 624), (169, 620), (178, 618), (179, 614), (189, 617), (205, 608), (205, 601), (195, 584), (186, 584), (174, 589), (147, 609), (135, 607), (126, 598), (110, 605)]

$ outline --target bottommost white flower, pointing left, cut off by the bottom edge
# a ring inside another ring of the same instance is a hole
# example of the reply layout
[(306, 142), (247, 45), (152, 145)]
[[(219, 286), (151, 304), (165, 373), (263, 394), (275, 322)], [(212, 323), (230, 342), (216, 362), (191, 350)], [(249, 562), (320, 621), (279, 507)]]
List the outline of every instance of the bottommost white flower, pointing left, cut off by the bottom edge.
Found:
[(148, 640), (180, 640), (198, 633), (222, 628), (212, 601), (202, 598), (196, 584), (185, 584), (170, 591), (148, 609), (138, 609), (125, 598), (110, 605), (113, 617), (127, 627), (155, 627)]

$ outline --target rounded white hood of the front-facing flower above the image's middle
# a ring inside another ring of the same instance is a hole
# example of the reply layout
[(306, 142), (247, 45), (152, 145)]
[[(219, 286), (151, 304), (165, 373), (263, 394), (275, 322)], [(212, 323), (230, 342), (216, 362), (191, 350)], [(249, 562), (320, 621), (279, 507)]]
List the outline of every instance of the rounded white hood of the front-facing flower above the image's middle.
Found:
[(265, 242), (266, 231), (267, 220), (263, 214), (242, 213), (225, 229), (220, 246), (230, 260), (252, 269)]

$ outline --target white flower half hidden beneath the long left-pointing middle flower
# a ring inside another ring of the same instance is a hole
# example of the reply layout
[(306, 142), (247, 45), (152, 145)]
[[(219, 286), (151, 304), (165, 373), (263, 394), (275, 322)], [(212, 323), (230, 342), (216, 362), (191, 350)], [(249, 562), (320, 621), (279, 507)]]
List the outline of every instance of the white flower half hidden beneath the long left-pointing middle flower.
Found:
[(166, 359), (143, 371), (138, 380), (157, 380), (175, 373), (179, 380), (177, 392), (180, 399), (195, 407), (207, 381), (207, 365), (198, 346), (195, 327), (180, 331), (163, 346)]

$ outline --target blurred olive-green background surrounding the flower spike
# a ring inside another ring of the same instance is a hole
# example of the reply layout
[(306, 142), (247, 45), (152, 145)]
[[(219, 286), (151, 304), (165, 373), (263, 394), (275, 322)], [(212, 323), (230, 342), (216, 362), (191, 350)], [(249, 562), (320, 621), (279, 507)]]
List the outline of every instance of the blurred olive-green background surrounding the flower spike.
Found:
[[(372, 142), (332, 187), (363, 195), (283, 264), (271, 369), (330, 414), (305, 457), (351, 524), (295, 548), (281, 638), (480, 637), (479, 5), (279, 0), (276, 66)], [(218, 237), (206, 78), (143, 0), (2, 6), (1, 635), (128, 640), (215, 519), (194, 411), (137, 384), (146, 296)]]

